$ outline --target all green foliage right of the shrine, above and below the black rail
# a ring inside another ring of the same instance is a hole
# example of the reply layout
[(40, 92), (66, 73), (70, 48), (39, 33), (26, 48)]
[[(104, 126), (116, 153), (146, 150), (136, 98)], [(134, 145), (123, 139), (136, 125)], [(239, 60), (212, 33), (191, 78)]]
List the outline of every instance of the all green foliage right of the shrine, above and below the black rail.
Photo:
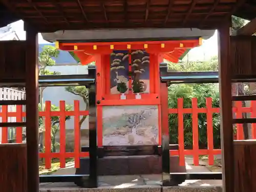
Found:
[[(218, 58), (212, 57), (209, 61), (189, 61), (181, 63), (168, 62), (168, 69), (172, 71), (217, 71)], [(207, 97), (212, 98), (212, 107), (219, 107), (219, 87), (216, 83), (203, 84), (172, 84), (168, 88), (169, 108), (177, 109), (178, 98), (183, 98), (183, 108), (192, 108), (191, 99), (198, 99), (198, 108), (206, 108)], [(206, 114), (198, 114), (198, 131), (200, 147), (207, 146), (207, 121)], [(193, 146), (192, 114), (183, 115), (184, 144), (189, 148)], [(212, 115), (215, 147), (220, 147), (220, 114)], [(178, 115), (169, 115), (170, 143), (178, 143)]]

